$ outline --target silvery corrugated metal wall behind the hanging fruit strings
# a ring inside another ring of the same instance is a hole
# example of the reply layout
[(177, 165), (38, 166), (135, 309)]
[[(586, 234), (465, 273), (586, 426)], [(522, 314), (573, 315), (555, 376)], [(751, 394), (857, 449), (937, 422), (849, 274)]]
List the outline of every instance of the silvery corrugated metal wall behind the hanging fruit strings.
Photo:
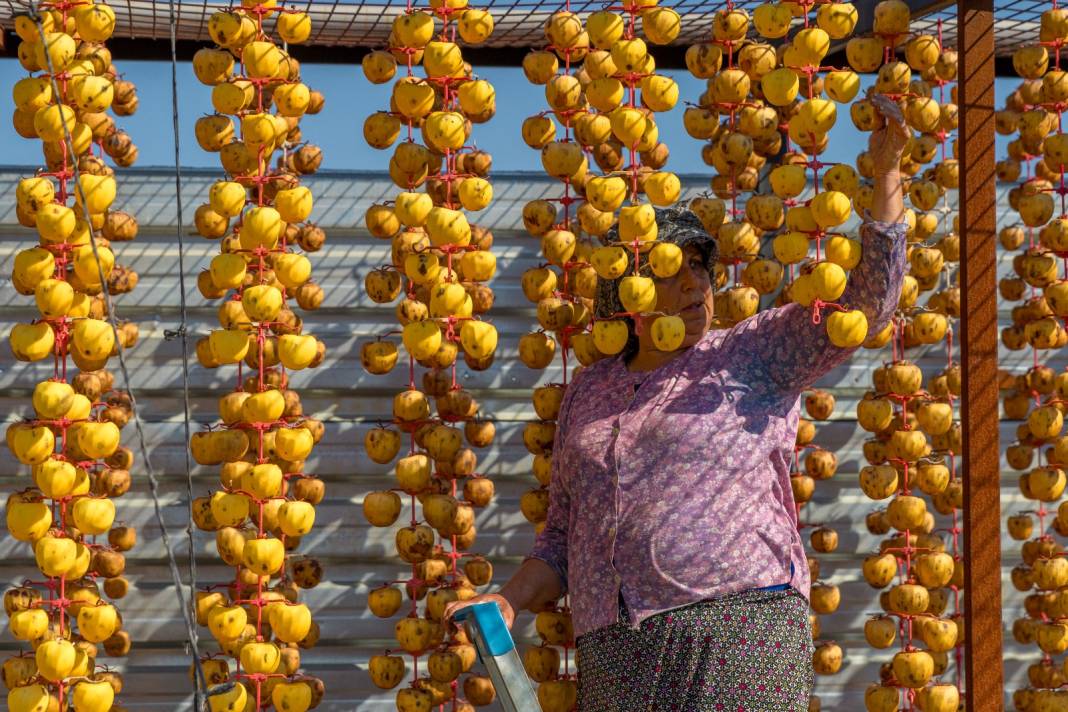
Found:
[[(15, 252), (30, 244), (30, 231), (17, 225), (14, 216), (14, 186), (31, 169), (0, 169), (0, 258), (11, 265)], [(193, 208), (204, 200), (215, 173), (190, 171), (183, 188), (186, 222), (191, 223)], [(687, 194), (703, 190), (703, 178), (685, 179)], [(308, 471), (327, 484), (327, 497), (318, 508), (315, 528), (304, 537), (300, 552), (317, 557), (325, 567), (325, 581), (305, 592), (323, 636), (319, 645), (303, 653), (304, 668), (321, 677), (327, 697), (325, 712), (342, 710), (394, 709), (393, 693), (374, 689), (365, 673), (371, 654), (393, 645), (392, 622), (374, 618), (366, 612), (370, 587), (396, 577), (404, 571), (393, 551), (393, 533), (368, 526), (360, 505), (364, 493), (389, 487), (391, 469), (372, 462), (363, 453), (364, 424), (390, 416), (391, 398), (406, 383), (405, 369), (388, 377), (368, 376), (360, 367), (357, 344), (393, 327), (392, 311), (371, 302), (362, 290), (363, 274), (388, 262), (388, 242), (375, 240), (362, 227), (364, 209), (374, 201), (387, 200), (394, 189), (380, 174), (324, 173), (308, 180), (316, 199), (313, 215), (328, 234), (327, 244), (310, 255), (313, 275), (326, 290), (318, 312), (307, 314), (305, 331), (327, 344), (327, 360), (319, 368), (294, 375), (292, 385), (302, 398), (304, 412), (326, 423), (326, 436), (315, 448)], [(532, 542), (532, 528), (519, 513), (519, 496), (533, 482), (530, 457), (521, 438), (522, 425), (531, 414), (529, 395), (540, 380), (559, 380), (559, 369), (534, 373), (518, 361), (517, 343), (535, 322), (534, 310), (519, 289), (519, 275), (538, 262), (538, 244), (521, 230), (522, 205), (535, 197), (557, 191), (541, 175), (496, 174), (497, 199), (481, 221), (492, 228), (493, 252), (499, 272), (491, 284), (497, 303), (490, 320), (500, 332), (500, 348), (494, 366), (484, 373), (465, 371), (464, 385), (482, 404), (483, 412), (498, 421), (498, 437), (492, 448), (480, 452), (480, 472), (494, 480), (497, 496), (478, 515), (478, 539), (474, 550), (485, 553), (494, 565), (494, 581), (511, 574)], [(120, 317), (136, 321), (141, 339), (129, 352), (132, 386), (145, 421), (152, 464), (161, 479), (163, 513), (177, 555), (186, 574), (186, 473), (183, 436), (179, 343), (167, 341), (164, 331), (178, 323), (178, 279), (174, 178), (164, 170), (132, 170), (120, 176), (119, 207), (137, 216), (141, 234), (135, 242), (117, 247), (117, 260), (140, 274), (137, 289), (119, 300)], [(189, 304), (189, 330), (195, 338), (217, 326), (216, 305), (206, 302), (195, 290), (195, 274), (206, 268), (217, 246), (193, 234), (186, 234), (186, 285)], [(1003, 269), (1008, 268), (1004, 260)], [(7, 268), (10, 269), (10, 267)], [(32, 300), (17, 295), (10, 282), (0, 286), (0, 330), (35, 316)], [(1004, 315), (1007, 318), (1007, 314)], [(7, 421), (30, 412), (29, 396), (33, 384), (50, 376), (40, 365), (17, 363), (6, 347), (0, 349), (0, 398)], [(864, 528), (864, 515), (871, 503), (857, 486), (864, 434), (854, 422), (857, 398), (869, 383), (871, 367), (886, 354), (861, 352), (852, 363), (830, 374), (821, 384), (837, 397), (832, 422), (819, 426), (817, 442), (837, 453), (838, 474), (820, 482), (815, 502), (806, 508), (805, 519), (826, 522), (838, 531), (839, 549), (822, 555), (824, 580), (842, 586), (843, 603), (838, 613), (824, 619), (823, 637), (838, 642), (846, 651), (843, 671), (818, 682), (824, 709), (853, 711), (863, 707), (863, 690), (878, 679), (878, 664), (890, 659), (888, 652), (866, 648), (862, 626), (876, 608), (875, 597), (860, 576), (860, 559), (877, 545)], [(1020, 354), (1005, 354), (1006, 364), (1024, 364)], [(925, 370), (944, 365), (941, 349), (918, 357)], [(206, 370), (192, 363), (191, 399), (198, 423), (217, 416), (216, 399), (233, 385), (233, 368)], [(1014, 424), (1003, 426), (1003, 438), (1012, 437)], [(124, 442), (132, 442), (132, 426), (124, 431)], [(139, 527), (138, 547), (128, 555), (127, 575), (134, 587), (119, 606), (126, 629), (134, 637), (134, 651), (116, 667), (125, 674), (122, 701), (130, 710), (190, 709), (191, 685), (187, 678), (189, 659), (184, 649), (184, 627), (167, 568), (158, 527), (153, 518), (147, 481), (139, 461), (131, 491), (116, 502), (119, 518)], [(0, 486), (3, 492), (27, 486), (27, 472), (9, 455), (0, 453)], [(218, 485), (217, 469), (193, 471), (194, 492), (205, 494)], [(1024, 508), (1016, 487), (1016, 477), (1007, 472), (1003, 487), (1003, 507)], [(231, 577), (232, 570), (221, 565), (215, 552), (214, 537), (195, 534), (195, 559), (201, 584), (219, 583)], [(1018, 557), (1018, 547), (1006, 539), (1005, 572)], [(34, 571), (32, 555), (25, 544), (10, 537), (0, 539), (0, 580), (15, 584)], [(1007, 581), (1007, 575), (1006, 575)], [(1021, 597), (1006, 598), (1006, 619), (1021, 610)], [(1007, 626), (1006, 626), (1007, 629)], [(1007, 632), (1007, 631), (1006, 631)], [(205, 647), (214, 649), (206, 631)], [(519, 636), (533, 639), (532, 617), (524, 616)], [(1010, 639), (1010, 637), (1009, 637)], [(0, 648), (17, 646), (4, 630)], [(1021, 677), (1021, 662), (1034, 660), (1034, 650), (1009, 647), (1006, 651), (1010, 681)], [(111, 662), (111, 661), (108, 661)]]

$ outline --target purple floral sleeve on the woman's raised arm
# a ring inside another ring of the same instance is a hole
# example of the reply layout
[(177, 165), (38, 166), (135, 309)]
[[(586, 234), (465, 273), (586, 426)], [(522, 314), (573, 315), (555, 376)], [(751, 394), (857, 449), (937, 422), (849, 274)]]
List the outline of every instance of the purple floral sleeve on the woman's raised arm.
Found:
[[(861, 225), (861, 260), (850, 272), (838, 303), (863, 312), (869, 334), (881, 331), (897, 308), (905, 279), (906, 231), (905, 223), (866, 221)], [(812, 308), (797, 303), (738, 323), (728, 332), (725, 346), (750, 354), (751, 365), (763, 377), (790, 393), (808, 387), (857, 350), (832, 344), (824, 326), (812, 322)]]

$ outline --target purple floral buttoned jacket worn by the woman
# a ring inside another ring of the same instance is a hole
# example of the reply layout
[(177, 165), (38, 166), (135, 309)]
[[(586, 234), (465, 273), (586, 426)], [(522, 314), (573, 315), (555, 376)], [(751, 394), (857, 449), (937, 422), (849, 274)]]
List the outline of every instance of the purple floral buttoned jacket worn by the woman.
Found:
[[(838, 301), (873, 333), (897, 306), (905, 232), (861, 227), (863, 256)], [(616, 622), (621, 592), (635, 627), (750, 588), (788, 582), (808, 597), (789, 480), (800, 395), (851, 353), (788, 304), (709, 331), (654, 370), (616, 357), (576, 377), (530, 554), (568, 590), (576, 635)]]

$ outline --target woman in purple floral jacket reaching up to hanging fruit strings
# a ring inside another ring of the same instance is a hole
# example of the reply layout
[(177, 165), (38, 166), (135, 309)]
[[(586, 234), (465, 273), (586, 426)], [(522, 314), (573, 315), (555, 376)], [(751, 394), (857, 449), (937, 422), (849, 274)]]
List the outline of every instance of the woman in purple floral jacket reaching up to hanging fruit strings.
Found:
[[(909, 133), (880, 123), (863, 257), (839, 299), (873, 333), (905, 271)], [(799, 398), (852, 349), (799, 304), (710, 330), (716, 243), (688, 210), (657, 221), (659, 239), (684, 249), (678, 274), (656, 280), (658, 308), (686, 322), (682, 346), (657, 350), (640, 317), (630, 349), (576, 377), (534, 550), (499, 592), (446, 615), (494, 601), (511, 626), (569, 594), (581, 712), (803, 712), (811, 582), (789, 481)], [(622, 311), (608, 286), (601, 314)]]

